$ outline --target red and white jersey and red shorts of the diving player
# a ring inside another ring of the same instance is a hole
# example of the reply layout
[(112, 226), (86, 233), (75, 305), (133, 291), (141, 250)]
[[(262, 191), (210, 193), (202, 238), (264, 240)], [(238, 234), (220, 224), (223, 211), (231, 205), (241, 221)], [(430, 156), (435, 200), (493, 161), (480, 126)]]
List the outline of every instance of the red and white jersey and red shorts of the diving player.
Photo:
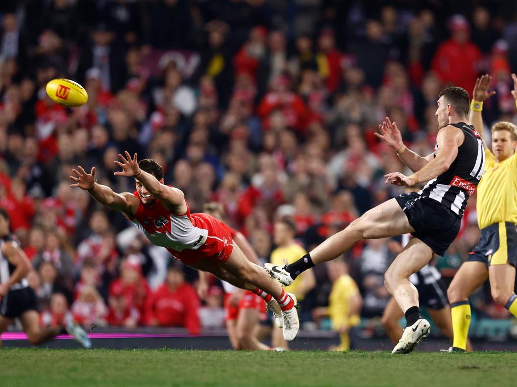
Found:
[[(139, 198), (137, 191), (133, 195)], [(174, 215), (157, 199), (153, 206), (144, 206), (142, 200), (133, 218), (130, 218), (149, 241), (165, 247), (176, 259), (186, 264), (203, 258), (224, 262), (232, 253), (230, 228), (208, 214), (187, 212)]]

